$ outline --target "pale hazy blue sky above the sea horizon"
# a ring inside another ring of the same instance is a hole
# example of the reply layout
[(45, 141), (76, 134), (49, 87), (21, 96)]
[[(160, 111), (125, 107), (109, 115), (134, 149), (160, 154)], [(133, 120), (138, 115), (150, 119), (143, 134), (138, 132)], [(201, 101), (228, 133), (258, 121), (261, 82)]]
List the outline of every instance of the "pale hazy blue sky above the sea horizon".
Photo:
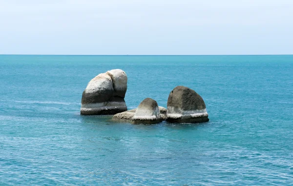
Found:
[(0, 54), (293, 54), (293, 0), (0, 0)]

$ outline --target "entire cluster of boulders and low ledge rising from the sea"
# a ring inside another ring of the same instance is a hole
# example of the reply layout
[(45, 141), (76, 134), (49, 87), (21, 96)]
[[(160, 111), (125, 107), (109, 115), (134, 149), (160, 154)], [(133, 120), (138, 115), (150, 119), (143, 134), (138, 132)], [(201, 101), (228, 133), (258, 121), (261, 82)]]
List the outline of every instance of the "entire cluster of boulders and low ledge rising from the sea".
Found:
[(206, 104), (194, 90), (177, 86), (169, 94), (167, 109), (158, 106), (155, 100), (146, 98), (135, 109), (128, 110), (124, 101), (127, 76), (115, 69), (99, 74), (86, 86), (82, 97), (82, 115), (115, 114), (113, 120), (133, 124), (208, 122)]

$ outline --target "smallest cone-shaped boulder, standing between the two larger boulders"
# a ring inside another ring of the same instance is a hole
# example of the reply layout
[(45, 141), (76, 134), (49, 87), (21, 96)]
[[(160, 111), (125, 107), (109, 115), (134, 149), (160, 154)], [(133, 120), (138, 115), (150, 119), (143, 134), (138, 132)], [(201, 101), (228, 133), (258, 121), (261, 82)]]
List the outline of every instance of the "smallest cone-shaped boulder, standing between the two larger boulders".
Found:
[(146, 98), (138, 105), (132, 118), (134, 124), (156, 124), (162, 121), (158, 103), (151, 98)]

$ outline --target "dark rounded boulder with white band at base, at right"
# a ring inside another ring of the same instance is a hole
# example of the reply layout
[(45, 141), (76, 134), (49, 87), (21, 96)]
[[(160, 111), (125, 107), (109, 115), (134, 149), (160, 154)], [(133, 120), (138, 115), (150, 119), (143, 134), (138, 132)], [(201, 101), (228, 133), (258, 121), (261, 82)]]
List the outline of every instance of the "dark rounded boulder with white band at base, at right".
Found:
[(208, 112), (202, 97), (185, 86), (176, 86), (167, 102), (167, 122), (202, 123), (208, 122)]

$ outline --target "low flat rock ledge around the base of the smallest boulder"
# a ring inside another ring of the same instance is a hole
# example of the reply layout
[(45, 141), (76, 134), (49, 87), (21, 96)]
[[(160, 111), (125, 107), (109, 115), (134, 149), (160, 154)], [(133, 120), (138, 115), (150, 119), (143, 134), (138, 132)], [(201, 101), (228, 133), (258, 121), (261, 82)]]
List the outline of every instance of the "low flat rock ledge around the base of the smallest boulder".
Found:
[[(115, 114), (113, 116), (113, 120), (114, 121), (126, 121), (126, 122), (129, 122), (129, 123), (135, 123), (135, 122), (133, 122), (132, 118), (134, 117), (136, 110), (137, 110), (137, 108), (134, 108), (134, 109), (131, 109), (131, 110), (127, 110), (125, 112)], [(160, 111), (160, 116), (159, 117), (162, 120), (166, 120), (166, 118), (167, 118), (167, 109), (164, 108), (163, 106), (159, 106), (159, 111)], [(147, 124), (147, 123), (148, 122), (145, 122), (145, 124)]]

